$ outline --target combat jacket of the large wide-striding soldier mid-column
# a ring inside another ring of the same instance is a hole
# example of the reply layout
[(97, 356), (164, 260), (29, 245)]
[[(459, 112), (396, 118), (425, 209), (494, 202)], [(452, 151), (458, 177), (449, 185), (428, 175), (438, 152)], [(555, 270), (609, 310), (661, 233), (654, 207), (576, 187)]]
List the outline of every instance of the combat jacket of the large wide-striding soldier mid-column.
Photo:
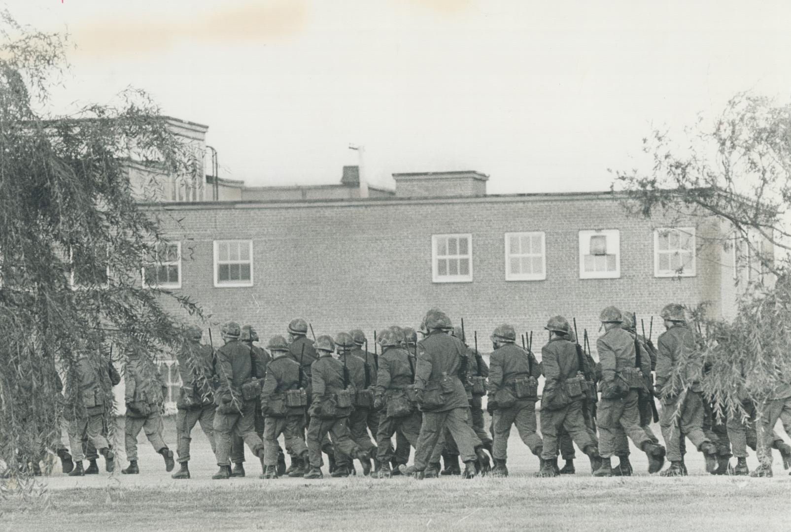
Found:
[[(465, 360), (466, 359), (466, 360)], [(442, 406), (431, 412), (445, 412), (456, 408), (467, 408), (467, 391), (460, 379), (462, 364), (469, 368), (467, 348), (458, 338), (433, 330), (426, 338), (418, 341), (418, 364), (414, 383), (418, 390), (426, 391), (440, 386), (445, 376), (450, 377), (452, 389), (443, 391)], [(428, 411), (428, 410), (424, 410)]]

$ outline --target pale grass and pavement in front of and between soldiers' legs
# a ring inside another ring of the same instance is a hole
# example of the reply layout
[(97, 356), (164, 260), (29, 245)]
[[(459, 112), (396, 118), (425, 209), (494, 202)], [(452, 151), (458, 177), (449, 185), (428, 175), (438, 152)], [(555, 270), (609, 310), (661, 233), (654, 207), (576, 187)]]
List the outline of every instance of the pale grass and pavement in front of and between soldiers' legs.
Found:
[[(165, 427), (165, 440), (175, 449), (172, 418)], [(263, 481), (259, 462), (248, 451), (248, 477), (211, 481), (217, 466), (198, 430), (192, 479), (173, 481), (141, 434), (140, 475), (55, 473), (45, 479), (47, 493), (40, 504), (28, 511), (20, 511), (17, 500), (0, 500), (0, 532), (791, 530), (791, 477), (779, 461), (772, 479), (712, 477), (695, 452), (687, 459), (690, 477), (649, 477), (642, 453), (633, 448), (639, 472), (634, 477), (593, 478), (584, 459), (577, 461), (573, 477), (538, 479), (532, 477), (538, 460), (515, 434), (509, 451), (511, 476), (505, 479)], [(125, 466), (119, 458), (119, 466)], [(756, 465), (755, 458), (750, 465)]]

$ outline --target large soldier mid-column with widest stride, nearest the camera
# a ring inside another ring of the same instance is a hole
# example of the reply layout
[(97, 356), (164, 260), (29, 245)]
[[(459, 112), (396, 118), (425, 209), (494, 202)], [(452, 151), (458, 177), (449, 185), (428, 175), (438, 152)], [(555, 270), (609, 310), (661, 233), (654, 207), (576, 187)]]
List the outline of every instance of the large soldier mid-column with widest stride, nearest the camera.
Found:
[(450, 323), (441, 311), (429, 311), (426, 329), (429, 335), (418, 342), (418, 363), (415, 387), (423, 422), (414, 451), (414, 465), (400, 466), (402, 474), (422, 478), (434, 447), (447, 427), (459, 447), (465, 464), (464, 477), (475, 477), (475, 462), (489, 463), (471, 424), (468, 424), (469, 404), (463, 379), (467, 378), (469, 360), (464, 345), (458, 338), (445, 334), (443, 327)]

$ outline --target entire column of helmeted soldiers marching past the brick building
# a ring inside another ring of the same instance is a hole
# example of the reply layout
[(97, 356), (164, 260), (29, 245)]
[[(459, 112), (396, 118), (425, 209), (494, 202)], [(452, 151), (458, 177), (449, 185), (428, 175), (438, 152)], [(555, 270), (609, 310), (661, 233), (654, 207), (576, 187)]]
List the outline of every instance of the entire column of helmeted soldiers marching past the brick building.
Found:
[[(289, 324), (288, 340), (272, 337), (268, 352), (253, 344), (258, 335), (251, 326), (226, 323), (221, 330), (224, 344), (218, 349), (202, 345), (202, 331), (193, 327), (177, 357), (183, 384), (176, 418), (180, 470), (173, 478), (190, 478), (190, 435), (198, 422), (217, 458), (214, 479), (244, 476), (244, 444), (259, 458), (266, 479), (321, 478), (324, 455), (333, 477), (357, 474), (355, 460), (363, 475), (373, 472), (382, 478), (471, 478), (489, 472), (505, 477), (513, 426), (539, 459), (537, 477), (574, 474), (573, 444), (589, 457), (594, 476), (629, 476), (629, 440), (648, 458), (649, 474), (686, 475), (687, 439), (702, 453), (711, 474), (771, 476), (772, 448), (780, 451), (788, 469), (791, 447), (773, 428), (780, 419), (786, 432), (791, 431), (791, 383), (774, 387), (759, 405), (745, 399), (747, 417), (723, 417), (718, 411), (725, 409), (702, 393), (706, 368), (684, 308), (669, 304), (661, 317), (666, 330), (654, 347), (650, 338), (637, 333), (634, 315), (605, 308), (600, 314), (604, 334), (596, 341), (598, 363), (592, 359), (587, 332), (585, 345), (580, 345), (576, 330), (562, 316), (548, 320), (549, 340), (540, 362), (524, 338), (517, 345), (513, 326), (502, 324), (490, 336), (490, 367), (477, 349), (477, 334), (471, 349), (464, 324), (454, 328), (436, 309), (423, 319), (422, 341), (414, 329), (391, 326), (380, 331), (373, 353), (361, 330), (335, 338), (323, 334), (312, 341), (304, 319)], [(139, 471), (141, 429), (170, 471), (173, 452), (162, 439), (161, 422), (165, 381), (153, 361), (133, 353), (127, 358), (129, 466), (122, 473)], [(545, 384), (539, 397), (541, 375)], [(99, 454), (106, 469), (113, 470), (107, 414), (112, 386), (119, 379), (106, 358), (84, 355), (75, 364), (66, 386), (66, 394), (78, 398), (70, 402), (77, 407), (66, 413), (74, 455), (55, 446), (64, 472), (97, 473)], [(484, 394), (491, 437), (483, 426)], [(664, 446), (650, 428), (652, 420), (660, 424)], [(288, 470), (278, 443), (281, 435), (291, 458)], [(760, 460), (752, 473), (746, 462), (748, 445)], [(407, 466), (412, 449), (414, 462)], [(86, 451), (89, 470), (83, 470)], [(493, 469), (486, 451), (494, 459)], [(566, 461), (562, 469), (558, 455)], [(619, 462), (612, 464), (612, 457)], [(662, 470), (665, 458), (670, 465)]]

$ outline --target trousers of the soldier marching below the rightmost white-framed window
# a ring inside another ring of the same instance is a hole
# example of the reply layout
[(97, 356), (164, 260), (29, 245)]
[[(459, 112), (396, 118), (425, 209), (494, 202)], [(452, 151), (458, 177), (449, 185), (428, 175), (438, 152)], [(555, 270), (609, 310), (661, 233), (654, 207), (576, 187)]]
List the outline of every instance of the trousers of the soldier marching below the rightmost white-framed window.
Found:
[(680, 462), (683, 457), (682, 435), (687, 436), (698, 451), (703, 443), (711, 441), (703, 432), (703, 397), (699, 392), (687, 391), (678, 397), (662, 398), (659, 425), (668, 453), (666, 458), (671, 462)]

